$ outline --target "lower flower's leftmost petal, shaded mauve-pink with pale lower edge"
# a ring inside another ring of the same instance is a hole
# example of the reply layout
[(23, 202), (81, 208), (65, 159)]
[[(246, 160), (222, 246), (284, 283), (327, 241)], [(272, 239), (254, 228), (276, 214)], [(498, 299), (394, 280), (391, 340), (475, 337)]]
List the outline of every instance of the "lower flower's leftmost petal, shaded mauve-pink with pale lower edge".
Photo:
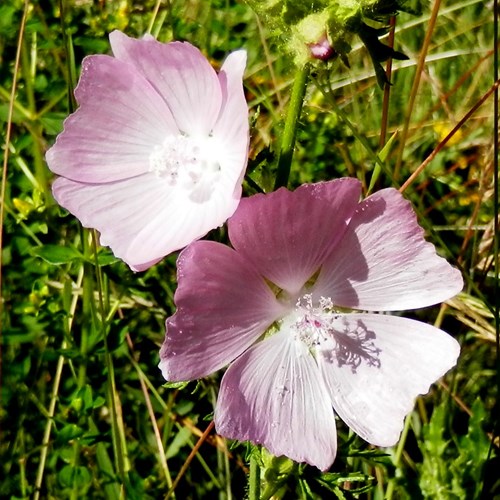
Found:
[(177, 260), (177, 277), (177, 311), (167, 320), (160, 351), (166, 380), (193, 380), (222, 368), (284, 313), (252, 266), (220, 243), (189, 245)]

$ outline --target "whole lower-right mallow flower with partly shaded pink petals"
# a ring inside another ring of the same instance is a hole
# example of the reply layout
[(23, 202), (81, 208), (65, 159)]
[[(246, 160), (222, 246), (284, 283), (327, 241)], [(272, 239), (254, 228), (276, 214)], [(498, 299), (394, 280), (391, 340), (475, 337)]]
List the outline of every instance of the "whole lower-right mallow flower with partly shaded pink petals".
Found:
[(328, 469), (335, 416), (394, 445), (414, 399), (456, 362), (458, 343), (387, 311), (458, 293), (458, 270), (425, 241), (395, 189), (363, 201), (356, 179), (244, 198), (232, 248), (194, 242), (178, 258), (177, 310), (160, 368), (168, 381), (225, 372), (219, 434)]

